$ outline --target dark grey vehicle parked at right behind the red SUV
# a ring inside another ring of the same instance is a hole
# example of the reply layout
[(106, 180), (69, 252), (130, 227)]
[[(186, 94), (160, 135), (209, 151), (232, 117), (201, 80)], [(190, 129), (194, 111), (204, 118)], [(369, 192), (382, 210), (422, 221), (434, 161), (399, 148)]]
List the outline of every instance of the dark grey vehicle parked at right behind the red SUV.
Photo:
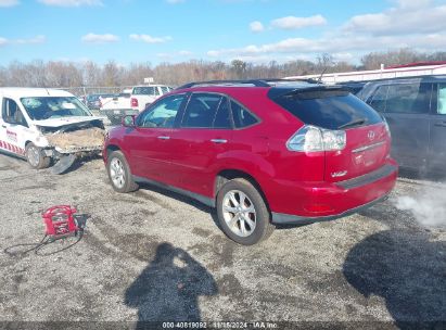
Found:
[(358, 97), (387, 120), (402, 167), (446, 174), (446, 76), (370, 81)]

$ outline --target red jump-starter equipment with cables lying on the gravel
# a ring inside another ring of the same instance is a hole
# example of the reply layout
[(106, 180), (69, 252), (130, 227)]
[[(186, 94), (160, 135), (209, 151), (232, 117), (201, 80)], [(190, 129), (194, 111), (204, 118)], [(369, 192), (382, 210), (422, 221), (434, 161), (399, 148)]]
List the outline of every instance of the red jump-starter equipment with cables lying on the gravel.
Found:
[(72, 234), (76, 236), (78, 231), (81, 231), (74, 216), (75, 213), (77, 210), (69, 205), (56, 205), (43, 212), (46, 237), (56, 240)]

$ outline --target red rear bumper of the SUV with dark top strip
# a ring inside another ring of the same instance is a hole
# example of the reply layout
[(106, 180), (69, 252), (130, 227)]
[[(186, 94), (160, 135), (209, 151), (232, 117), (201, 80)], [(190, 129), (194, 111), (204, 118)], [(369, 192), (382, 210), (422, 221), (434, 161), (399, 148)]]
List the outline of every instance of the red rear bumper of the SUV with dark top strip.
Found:
[[(390, 161), (383, 167), (367, 175), (340, 181), (305, 183), (288, 189), (292, 205), (271, 205), (272, 223), (300, 224), (331, 220), (357, 213), (384, 200), (395, 186), (398, 166)], [(282, 208), (282, 210), (281, 210)]]

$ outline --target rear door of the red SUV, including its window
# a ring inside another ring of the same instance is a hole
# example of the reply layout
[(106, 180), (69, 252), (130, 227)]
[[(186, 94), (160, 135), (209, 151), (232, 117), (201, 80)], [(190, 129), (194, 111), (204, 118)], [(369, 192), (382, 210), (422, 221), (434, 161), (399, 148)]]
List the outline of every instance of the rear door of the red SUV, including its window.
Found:
[(219, 93), (192, 93), (179, 128), (171, 134), (173, 172), (180, 174), (179, 187), (202, 195), (214, 189), (218, 157), (231, 144), (229, 101)]

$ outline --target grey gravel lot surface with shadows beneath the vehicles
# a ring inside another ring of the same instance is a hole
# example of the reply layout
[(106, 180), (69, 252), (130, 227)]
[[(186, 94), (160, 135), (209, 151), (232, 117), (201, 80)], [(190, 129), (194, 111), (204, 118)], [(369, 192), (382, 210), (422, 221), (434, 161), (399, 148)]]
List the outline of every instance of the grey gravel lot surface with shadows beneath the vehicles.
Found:
[[(56, 176), (0, 154), (0, 185), (1, 320), (446, 321), (446, 230), (393, 206), (432, 182), (400, 180), (367, 212), (251, 248), (197, 202), (149, 186), (115, 193), (99, 158)], [(90, 216), (82, 240), (18, 253), (55, 204)]]

